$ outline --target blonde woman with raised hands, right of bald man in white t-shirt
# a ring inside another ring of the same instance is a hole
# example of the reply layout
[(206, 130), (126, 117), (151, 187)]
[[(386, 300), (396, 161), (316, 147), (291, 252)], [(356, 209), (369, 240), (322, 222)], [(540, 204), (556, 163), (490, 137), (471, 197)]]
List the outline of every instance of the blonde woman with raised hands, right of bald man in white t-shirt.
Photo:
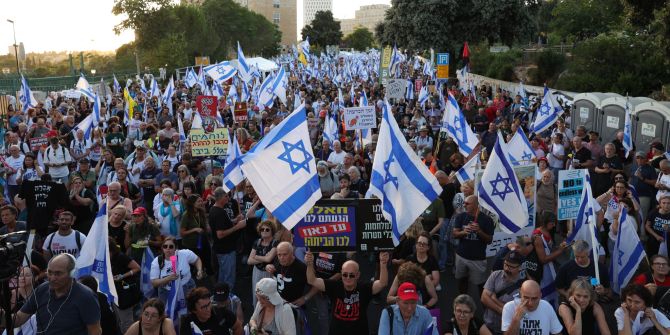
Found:
[(605, 313), (596, 302), (596, 291), (588, 279), (577, 278), (568, 289), (568, 301), (558, 307), (568, 335), (610, 335)]

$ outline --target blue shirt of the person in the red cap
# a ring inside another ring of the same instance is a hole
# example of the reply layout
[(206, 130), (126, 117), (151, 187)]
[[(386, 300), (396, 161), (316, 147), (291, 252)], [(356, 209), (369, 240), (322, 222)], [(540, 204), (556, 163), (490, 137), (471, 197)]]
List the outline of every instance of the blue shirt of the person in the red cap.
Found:
[(437, 335), (437, 327), (433, 327), (432, 332), (426, 333), (433, 323), (433, 317), (426, 307), (416, 306), (414, 315), (410, 318), (407, 326), (405, 326), (398, 305), (392, 305), (391, 308), (393, 309), (393, 334), (391, 334), (388, 312), (383, 310), (379, 320), (379, 335)]

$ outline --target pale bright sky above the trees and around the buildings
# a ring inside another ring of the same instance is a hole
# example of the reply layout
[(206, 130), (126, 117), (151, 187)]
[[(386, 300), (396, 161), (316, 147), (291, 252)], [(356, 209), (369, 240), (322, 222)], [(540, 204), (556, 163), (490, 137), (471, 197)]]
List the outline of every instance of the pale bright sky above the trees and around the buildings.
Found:
[[(390, 4), (390, 0), (333, 0), (335, 18), (353, 18), (361, 5)], [(114, 0), (18, 0), (0, 13), (0, 54), (23, 42), (26, 53), (44, 51), (114, 51), (134, 40), (132, 31), (116, 35), (112, 28), (122, 16), (112, 14)], [(298, 31), (302, 27), (303, 0), (298, 0)]]

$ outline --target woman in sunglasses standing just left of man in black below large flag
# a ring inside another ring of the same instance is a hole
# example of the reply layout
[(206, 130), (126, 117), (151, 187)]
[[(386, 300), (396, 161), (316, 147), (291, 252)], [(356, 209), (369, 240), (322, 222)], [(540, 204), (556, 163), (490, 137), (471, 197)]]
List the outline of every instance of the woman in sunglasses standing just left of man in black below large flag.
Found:
[[(265, 271), (265, 266), (272, 263), (277, 255), (277, 245), (279, 241), (274, 239), (276, 232), (275, 224), (272, 221), (265, 220), (256, 226), (259, 237), (253, 244), (247, 264), (253, 265), (251, 284), (256, 287), (256, 283), (263, 278), (270, 278), (272, 274)], [(256, 296), (252, 292), (253, 306), (256, 306)]]

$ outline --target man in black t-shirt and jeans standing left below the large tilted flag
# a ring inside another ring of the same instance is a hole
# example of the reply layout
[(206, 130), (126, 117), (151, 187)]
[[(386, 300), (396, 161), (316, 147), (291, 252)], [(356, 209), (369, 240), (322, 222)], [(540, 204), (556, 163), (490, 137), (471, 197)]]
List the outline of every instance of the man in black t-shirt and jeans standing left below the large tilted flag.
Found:
[(214, 190), (214, 199), (214, 206), (209, 210), (209, 224), (212, 228), (214, 252), (219, 262), (218, 281), (235, 287), (235, 247), (239, 238), (238, 231), (244, 229), (247, 221), (241, 215), (235, 218), (235, 222), (230, 218), (226, 210), (230, 199), (222, 187)]

